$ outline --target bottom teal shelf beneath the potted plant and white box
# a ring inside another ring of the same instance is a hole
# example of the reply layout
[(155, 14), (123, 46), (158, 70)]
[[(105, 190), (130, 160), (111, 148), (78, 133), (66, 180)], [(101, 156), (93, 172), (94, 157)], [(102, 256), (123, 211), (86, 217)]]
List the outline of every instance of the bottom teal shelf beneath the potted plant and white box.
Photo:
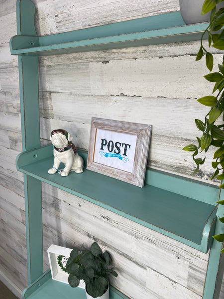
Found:
[[(71, 288), (68, 284), (51, 278), (50, 269), (23, 292), (23, 299), (86, 299), (82, 288)], [(128, 299), (125, 295), (110, 286), (110, 299)]]

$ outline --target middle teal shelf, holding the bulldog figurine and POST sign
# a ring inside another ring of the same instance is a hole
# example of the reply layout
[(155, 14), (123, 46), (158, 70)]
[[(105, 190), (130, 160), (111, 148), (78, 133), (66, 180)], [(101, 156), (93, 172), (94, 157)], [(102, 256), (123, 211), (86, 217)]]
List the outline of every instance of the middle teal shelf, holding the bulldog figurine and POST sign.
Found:
[(66, 177), (48, 174), (52, 152), (52, 145), (23, 152), (17, 157), (17, 169), (193, 248), (203, 252), (210, 248), (215, 204), (150, 184), (136, 187), (85, 168)]

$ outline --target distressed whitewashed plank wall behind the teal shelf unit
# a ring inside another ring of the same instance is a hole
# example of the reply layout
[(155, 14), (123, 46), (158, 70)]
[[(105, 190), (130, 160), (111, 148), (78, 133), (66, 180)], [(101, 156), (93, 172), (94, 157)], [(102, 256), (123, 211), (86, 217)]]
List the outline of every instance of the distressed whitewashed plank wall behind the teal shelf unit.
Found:
[[(179, 10), (178, 0), (34, 0), (39, 35), (70, 31)], [(0, 1), (0, 279), (21, 298), (27, 285), (15, 0)], [(205, 62), (199, 42), (113, 49), (40, 58), (42, 144), (63, 128), (88, 149), (91, 117), (153, 125), (148, 166), (182, 176), (194, 169), (182, 150), (196, 141), (194, 119), (208, 108)], [(222, 54), (215, 51), (216, 62)], [(209, 181), (212, 152), (195, 177)], [(78, 175), (78, 174), (77, 174)], [(214, 182), (218, 184), (218, 182)], [(209, 254), (201, 253), (83, 199), (43, 184), (44, 269), (51, 244), (88, 246), (112, 254), (119, 274), (112, 284), (132, 299), (201, 299)], [(220, 298), (224, 298), (221, 293)]]

